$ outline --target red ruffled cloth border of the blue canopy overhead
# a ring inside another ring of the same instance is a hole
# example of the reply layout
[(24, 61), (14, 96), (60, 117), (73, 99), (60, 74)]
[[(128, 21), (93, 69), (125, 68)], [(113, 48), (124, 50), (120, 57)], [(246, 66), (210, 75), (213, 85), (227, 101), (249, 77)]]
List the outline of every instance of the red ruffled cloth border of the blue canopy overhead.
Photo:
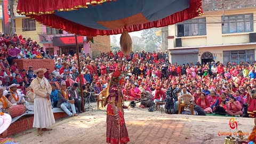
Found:
[[(79, 7), (86, 7), (90, 4), (101, 4), (103, 2), (109, 2), (110, 0), (78, 0), (78, 1), (59, 1), (59, 0), (19, 0), (17, 6), (17, 12), (20, 14), (26, 14), (28, 17), (36, 19), (39, 23), (43, 23), (45, 26), (51, 26), (57, 29), (62, 29), (68, 31), (69, 33), (84, 35), (84, 36), (97, 36), (97, 35), (114, 35), (122, 34), (126, 29), (128, 32), (139, 31), (143, 29), (149, 29), (153, 27), (164, 27), (173, 25), (175, 23), (185, 21), (198, 17), (203, 13), (202, 0), (190, 0), (190, 6), (188, 9), (174, 13), (168, 17), (160, 20), (141, 23), (138, 25), (126, 26), (122, 29), (113, 30), (100, 30), (79, 25), (73, 21), (60, 18), (54, 14), (54, 10), (59, 11), (71, 11), (76, 10)], [(87, 3), (86, 3), (87, 2)], [(29, 5), (28, 5), (29, 3)], [(41, 5), (41, 6), (31, 6), (31, 5)]]

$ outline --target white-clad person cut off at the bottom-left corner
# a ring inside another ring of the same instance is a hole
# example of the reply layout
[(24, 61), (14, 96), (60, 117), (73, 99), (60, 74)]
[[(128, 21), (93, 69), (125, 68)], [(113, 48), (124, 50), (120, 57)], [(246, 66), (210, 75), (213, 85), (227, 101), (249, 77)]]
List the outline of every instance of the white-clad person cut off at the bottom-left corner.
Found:
[(14, 141), (12, 138), (6, 138), (7, 129), (12, 122), (12, 118), (9, 114), (0, 114), (0, 143), (5, 144), (19, 144), (19, 142)]

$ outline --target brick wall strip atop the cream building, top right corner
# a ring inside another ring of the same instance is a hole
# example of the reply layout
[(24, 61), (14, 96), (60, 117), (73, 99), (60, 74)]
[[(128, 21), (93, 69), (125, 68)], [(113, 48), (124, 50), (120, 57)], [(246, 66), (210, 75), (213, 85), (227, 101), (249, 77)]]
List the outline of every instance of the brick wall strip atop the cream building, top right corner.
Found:
[[(223, 2), (225, 9), (239, 9), (256, 6), (256, 0), (226, 0)], [(203, 0), (203, 9), (204, 11), (221, 10), (221, 4), (221, 0)]]

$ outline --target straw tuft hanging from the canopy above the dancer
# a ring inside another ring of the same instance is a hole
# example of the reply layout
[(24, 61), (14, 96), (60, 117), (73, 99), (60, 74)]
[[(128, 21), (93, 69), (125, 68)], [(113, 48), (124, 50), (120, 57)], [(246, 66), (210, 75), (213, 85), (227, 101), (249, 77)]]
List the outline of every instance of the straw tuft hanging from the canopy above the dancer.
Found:
[(121, 51), (124, 55), (129, 55), (132, 51), (132, 38), (128, 31), (124, 31), (120, 37)]

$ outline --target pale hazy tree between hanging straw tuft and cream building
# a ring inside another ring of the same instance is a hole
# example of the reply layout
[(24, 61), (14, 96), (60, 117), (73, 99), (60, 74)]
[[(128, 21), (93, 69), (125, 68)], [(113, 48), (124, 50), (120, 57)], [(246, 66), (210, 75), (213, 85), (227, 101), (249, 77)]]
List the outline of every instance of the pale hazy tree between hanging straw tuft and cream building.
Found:
[[(148, 46), (152, 45), (154, 43), (157, 46), (156, 49), (160, 49), (162, 51), (162, 36), (156, 35), (157, 31), (161, 31), (161, 28), (145, 29), (142, 31), (141, 37), (142, 37), (142, 39), (144, 39), (145, 43)], [(152, 45), (152, 47), (155, 47), (155, 46)], [(151, 50), (151, 51), (153, 51), (153, 50)]]

